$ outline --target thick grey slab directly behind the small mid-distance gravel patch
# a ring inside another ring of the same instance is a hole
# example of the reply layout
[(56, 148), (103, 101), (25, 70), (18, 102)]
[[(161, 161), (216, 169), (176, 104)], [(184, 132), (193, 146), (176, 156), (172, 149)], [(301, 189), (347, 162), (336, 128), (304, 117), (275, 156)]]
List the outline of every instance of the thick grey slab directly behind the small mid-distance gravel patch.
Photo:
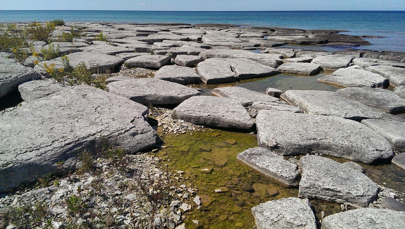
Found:
[(141, 55), (125, 61), (128, 68), (162, 68), (170, 61), (167, 55)]

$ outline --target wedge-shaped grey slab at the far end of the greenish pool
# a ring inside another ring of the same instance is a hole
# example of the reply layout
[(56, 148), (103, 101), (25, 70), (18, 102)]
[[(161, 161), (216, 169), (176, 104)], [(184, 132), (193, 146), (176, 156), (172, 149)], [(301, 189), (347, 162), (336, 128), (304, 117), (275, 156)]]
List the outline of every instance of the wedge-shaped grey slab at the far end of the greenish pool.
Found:
[(240, 102), (215, 96), (194, 96), (173, 109), (172, 116), (197, 125), (251, 129), (254, 121)]

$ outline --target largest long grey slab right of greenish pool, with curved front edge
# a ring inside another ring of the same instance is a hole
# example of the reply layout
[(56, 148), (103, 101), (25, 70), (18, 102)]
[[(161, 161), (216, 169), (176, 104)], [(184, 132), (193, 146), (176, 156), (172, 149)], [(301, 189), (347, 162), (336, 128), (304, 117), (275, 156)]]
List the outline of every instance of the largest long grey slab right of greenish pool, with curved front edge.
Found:
[(393, 156), (390, 144), (361, 123), (338, 117), (259, 110), (259, 146), (284, 155), (322, 153), (363, 163)]

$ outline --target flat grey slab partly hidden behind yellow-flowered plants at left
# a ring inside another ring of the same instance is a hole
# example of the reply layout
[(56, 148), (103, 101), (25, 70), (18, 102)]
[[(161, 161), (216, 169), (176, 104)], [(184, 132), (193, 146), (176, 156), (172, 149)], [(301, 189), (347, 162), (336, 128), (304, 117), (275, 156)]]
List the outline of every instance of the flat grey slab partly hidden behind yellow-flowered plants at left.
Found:
[[(97, 46), (97, 45), (95, 45)], [(82, 62), (86, 64), (87, 68), (93, 71), (100, 71), (103, 72), (105, 70), (114, 69), (115, 66), (122, 64), (124, 62), (123, 59), (99, 53), (99, 52), (79, 52), (79, 53), (72, 53), (67, 55), (69, 59), (69, 64), (75, 68), (78, 64)], [(41, 61), (35, 67), (34, 70), (40, 72), (41, 74), (47, 74), (45, 70), (41, 67), (44, 63), (55, 64), (55, 69), (63, 68), (63, 61), (61, 57), (56, 59), (48, 60), (48, 61)]]

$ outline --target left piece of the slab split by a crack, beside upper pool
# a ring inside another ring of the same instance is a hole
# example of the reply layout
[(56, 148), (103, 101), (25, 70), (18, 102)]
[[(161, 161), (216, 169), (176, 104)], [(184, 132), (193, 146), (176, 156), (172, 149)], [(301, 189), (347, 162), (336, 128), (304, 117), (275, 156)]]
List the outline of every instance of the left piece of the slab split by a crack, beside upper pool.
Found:
[(232, 72), (229, 61), (223, 58), (210, 58), (198, 63), (197, 73), (206, 84), (236, 81), (236, 75)]

